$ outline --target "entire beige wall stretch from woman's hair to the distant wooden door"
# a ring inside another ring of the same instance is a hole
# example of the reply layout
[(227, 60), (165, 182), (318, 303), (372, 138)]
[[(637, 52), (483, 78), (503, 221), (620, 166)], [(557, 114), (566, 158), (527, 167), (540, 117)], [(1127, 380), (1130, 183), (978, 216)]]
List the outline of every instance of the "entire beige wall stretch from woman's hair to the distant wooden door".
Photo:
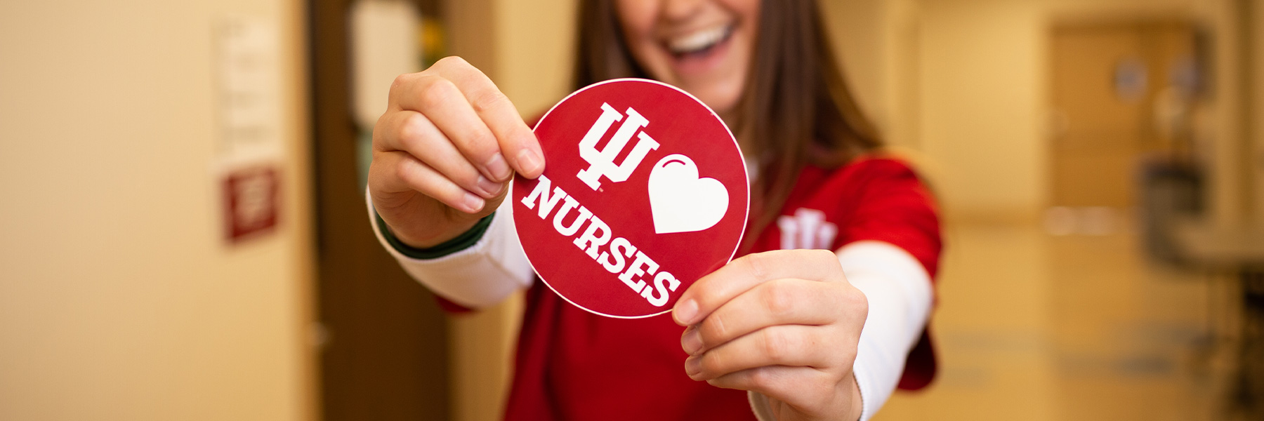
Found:
[(1034, 215), (1045, 193), (1038, 4), (823, 5), (853, 94), (886, 140), (915, 161), (945, 211)]

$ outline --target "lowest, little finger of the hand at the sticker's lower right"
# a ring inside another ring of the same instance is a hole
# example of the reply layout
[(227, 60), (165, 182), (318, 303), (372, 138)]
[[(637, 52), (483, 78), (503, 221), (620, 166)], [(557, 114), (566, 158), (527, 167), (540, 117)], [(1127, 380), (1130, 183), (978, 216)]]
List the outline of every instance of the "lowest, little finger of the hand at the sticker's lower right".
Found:
[(707, 383), (755, 391), (799, 408), (828, 402), (834, 393), (834, 377), (810, 367), (766, 365), (724, 374)]

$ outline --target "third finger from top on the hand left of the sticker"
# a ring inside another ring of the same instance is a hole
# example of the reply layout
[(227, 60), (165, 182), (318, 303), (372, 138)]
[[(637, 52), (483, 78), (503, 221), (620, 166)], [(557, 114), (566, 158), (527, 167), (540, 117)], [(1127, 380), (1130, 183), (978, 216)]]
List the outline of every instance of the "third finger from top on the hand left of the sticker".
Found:
[(456, 150), (451, 140), (421, 113), (396, 111), (384, 119), (388, 121), (379, 125), (380, 130), (374, 131), (374, 148), (404, 150), (461, 188), (483, 198), (495, 197), (503, 190), (503, 183), (490, 181), (479, 173), (474, 164)]

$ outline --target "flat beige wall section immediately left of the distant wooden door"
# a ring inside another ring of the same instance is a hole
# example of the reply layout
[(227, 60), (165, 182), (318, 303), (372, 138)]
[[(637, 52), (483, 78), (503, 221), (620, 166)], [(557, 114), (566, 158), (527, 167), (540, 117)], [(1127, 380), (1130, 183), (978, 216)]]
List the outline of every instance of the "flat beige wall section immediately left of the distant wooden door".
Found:
[(1042, 29), (1030, 3), (921, 4), (920, 138), (949, 214), (1044, 202)]

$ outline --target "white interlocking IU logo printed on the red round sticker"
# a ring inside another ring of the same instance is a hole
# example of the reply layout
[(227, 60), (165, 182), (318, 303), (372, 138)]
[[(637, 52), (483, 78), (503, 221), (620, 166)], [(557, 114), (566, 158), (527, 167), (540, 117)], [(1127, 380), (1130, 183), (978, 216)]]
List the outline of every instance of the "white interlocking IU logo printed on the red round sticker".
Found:
[[(602, 187), (602, 176), (617, 183), (627, 181), (628, 176), (632, 176), (632, 171), (645, 159), (645, 156), (650, 150), (659, 149), (659, 142), (650, 138), (645, 131), (637, 133), (641, 128), (648, 125), (650, 120), (641, 116), (641, 113), (637, 113), (632, 107), (628, 107), (627, 114), (627, 120), (623, 120), (623, 115), (619, 111), (616, 111), (609, 104), (603, 102), (602, 116), (597, 118), (597, 123), (593, 123), (593, 128), (588, 129), (588, 134), (579, 142), (579, 157), (584, 158), (589, 167), (588, 169), (580, 169), (576, 176), (588, 187), (593, 187), (593, 190)], [(623, 125), (614, 133), (614, 138), (611, 138), (605, 148), (597, 150), (597, 143), (605, 137), (605, 131), (611, 130), (614, 121), (619, 120), (623, 120)], [(636, 145), (623, 158), (623, 162), (616, 166), (614, 158), (623, 152), (623, 148), (627, 147), (633, 134), (637, 134)]]

